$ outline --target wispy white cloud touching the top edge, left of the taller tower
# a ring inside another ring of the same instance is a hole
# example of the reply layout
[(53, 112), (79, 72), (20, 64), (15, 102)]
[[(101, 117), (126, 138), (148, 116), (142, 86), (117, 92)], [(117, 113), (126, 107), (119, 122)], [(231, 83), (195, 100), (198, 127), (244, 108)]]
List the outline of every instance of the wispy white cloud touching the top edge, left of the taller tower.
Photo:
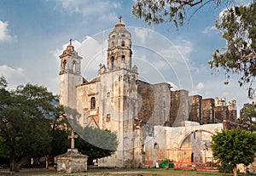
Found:
[(100, 20), (108, 22), (116, 21), (116, 9), (121, 8), (118, 1), (99, 1), (99, 0), (56, 0), (56, 9), (61, 8), (62, 11), (68, 13), (82, 14), (84, 20)]

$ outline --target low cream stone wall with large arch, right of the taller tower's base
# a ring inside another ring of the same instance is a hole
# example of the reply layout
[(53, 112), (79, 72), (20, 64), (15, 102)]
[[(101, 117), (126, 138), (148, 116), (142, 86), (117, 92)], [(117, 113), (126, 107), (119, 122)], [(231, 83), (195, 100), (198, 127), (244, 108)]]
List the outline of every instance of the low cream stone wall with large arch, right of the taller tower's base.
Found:
[[(195, 150), (191, 148), (181, 150), (184, 139), (186, 139), (191, 133), (194, 132), (205, 132), (209, 134), (204, 134), (209, 137), (212, 134), (221, 132), (223, 130), (223, 123), (206, 124), (200, 125), (197, 122), (184, 122), (183, 127), (162, 127), (154, 126), (154, 136), (148, 136), (145, 140), (145, 152), (146, 152), (146, 162), (153, 161), (163, 161), (166, 158), (172, 160), (173, 162), (191, 162), (191, 154)], [(159, 148), (154, 149), (154, 143), (157, 142)], [(154, 150), (158, 151), (157, 156), (153, 156)], [(186, 158), (184, 160), (184, 153), (186, 153)], [(205, 155), (197, 155), (196, 152), (193, 154), (193, 162), (204, 162)]]

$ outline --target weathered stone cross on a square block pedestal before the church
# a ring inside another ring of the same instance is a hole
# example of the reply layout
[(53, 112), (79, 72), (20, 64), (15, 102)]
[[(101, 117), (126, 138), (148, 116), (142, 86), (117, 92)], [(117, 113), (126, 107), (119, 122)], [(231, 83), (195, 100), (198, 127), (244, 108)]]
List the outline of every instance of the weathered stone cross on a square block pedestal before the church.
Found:
[(78, 149), (74, 148), (74, 139), (78, 138), (78, 135), (72, 133), (68, 136), (71, 139), (71, 148), (66, 153), (55, 156), (57, 162), (57, 171), (60, 173), (81, 173), (87, 171), (87, 158), (88, 156), (79, 153)]

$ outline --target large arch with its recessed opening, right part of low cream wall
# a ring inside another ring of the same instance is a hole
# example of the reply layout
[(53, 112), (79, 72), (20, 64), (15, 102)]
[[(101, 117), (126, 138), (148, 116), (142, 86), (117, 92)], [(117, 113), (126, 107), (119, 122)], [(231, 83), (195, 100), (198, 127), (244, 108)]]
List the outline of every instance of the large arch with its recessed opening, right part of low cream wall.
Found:
[[(196, 125), (186, 122), (185, 127), (171, 128), (167, 156), (178, 163), (213, 162), (209, 143), (211, 136), (223, 130), (223, 124)], [(173, 138), (172, 136), (175, 136)]]

